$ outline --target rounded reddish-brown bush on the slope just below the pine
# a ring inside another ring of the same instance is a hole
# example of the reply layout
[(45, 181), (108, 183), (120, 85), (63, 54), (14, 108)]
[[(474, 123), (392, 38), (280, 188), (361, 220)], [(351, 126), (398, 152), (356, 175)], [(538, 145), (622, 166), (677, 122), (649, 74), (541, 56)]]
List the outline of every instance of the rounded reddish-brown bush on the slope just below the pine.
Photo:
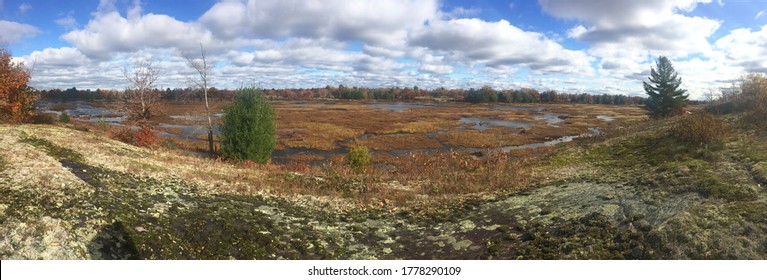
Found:
[(708, 113), (683, 116), (673, 129), (677, 139), (693, 145), (722, 144), (727, 135), (724, 123)]

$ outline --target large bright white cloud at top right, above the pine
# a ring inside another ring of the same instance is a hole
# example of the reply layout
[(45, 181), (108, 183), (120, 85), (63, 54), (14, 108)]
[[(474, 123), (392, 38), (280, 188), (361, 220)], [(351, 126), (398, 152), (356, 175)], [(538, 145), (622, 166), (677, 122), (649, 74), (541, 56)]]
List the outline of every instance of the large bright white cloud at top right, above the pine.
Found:
[(591, 44), (597, 52), (600, 48), (628, 48), (669, 56), (688, 56), (711, 50), (707, 38), (720, 23), (679, 13), (709, 2), (539, 0), (547, 13), (584, 23), (570, 29), (568, 36)]

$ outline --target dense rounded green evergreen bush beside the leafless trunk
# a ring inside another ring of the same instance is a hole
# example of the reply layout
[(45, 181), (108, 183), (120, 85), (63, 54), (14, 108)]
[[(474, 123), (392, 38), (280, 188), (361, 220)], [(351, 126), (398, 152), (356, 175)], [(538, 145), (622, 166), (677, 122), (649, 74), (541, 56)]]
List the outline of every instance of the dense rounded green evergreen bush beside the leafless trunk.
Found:
[(260, 89), (241, 89), (224, 109), (221, 154), (224, 158), (266, 163), (275, 145), (274, 109)]

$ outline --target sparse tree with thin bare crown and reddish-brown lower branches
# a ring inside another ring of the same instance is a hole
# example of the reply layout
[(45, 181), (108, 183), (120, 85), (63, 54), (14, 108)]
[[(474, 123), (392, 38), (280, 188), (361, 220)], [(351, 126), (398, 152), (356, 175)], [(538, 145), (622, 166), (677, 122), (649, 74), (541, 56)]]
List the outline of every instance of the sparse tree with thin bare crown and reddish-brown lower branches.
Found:
[(123, 69), (123, 75), (131, 83), (123, 95), (122, 106), (128, 112), (128, 118), (146, 122), (155, 114), (160, 92), (153, 88), (160, 71), (149, 61), (139, 61), (132, 69)]

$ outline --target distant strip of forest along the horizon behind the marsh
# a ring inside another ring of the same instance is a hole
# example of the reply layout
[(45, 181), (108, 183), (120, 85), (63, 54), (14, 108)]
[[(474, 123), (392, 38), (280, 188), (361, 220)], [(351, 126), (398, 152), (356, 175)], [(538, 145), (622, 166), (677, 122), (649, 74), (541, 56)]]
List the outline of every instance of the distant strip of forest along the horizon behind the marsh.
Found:
[[(69, 88), (65, 90), (51, 89), (40, 91), (43, 98), (59, 100), (83, 100), (83, 101), (116, 101), (122, 96), (118, 90), (78, 90)], [(167, 88), (156, 89), (162, 100), (165, 101), (195, 101), (203, 100), (202, 92), (190, 88)], [(210, 88), (208, 94), (212, 100), (228, 101), (236, 90)], [(643, 104), (646, 98), (639, 96), (588, 94), (588, 93), (560, 93), (554, 90), (539, 92), (535, 89), (507, 89), (495, 90), (489, 86), (480, 89), (445, 89), (432, 90), (412, 88), (360, 88), (326, 86), (324, 88), (311, 89), (264, 89), (267, 97), (274, 100), (311, 100), (311, 99), (349, 99), (349, 100), (387, 100), (387, 101), (415, 101), (415, 100), (443, 100), (464, 101), (470, 103), (578, 103), (578, 104), (614, 104), (614, 105), (638, 105)]]

